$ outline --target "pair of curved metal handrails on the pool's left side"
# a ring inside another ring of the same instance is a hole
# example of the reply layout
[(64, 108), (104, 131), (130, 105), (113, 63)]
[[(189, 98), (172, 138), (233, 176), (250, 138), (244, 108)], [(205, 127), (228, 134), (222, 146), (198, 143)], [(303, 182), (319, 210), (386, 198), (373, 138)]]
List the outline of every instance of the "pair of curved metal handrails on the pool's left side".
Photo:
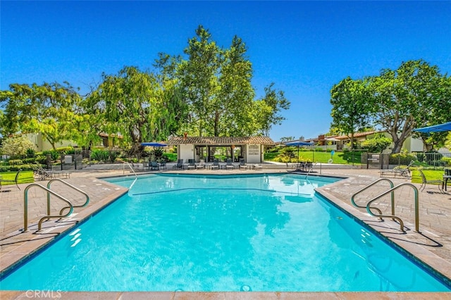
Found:
[[(61, 182), (64, 185), (67, 185), (68, 187), (75, 189), (75, 191), (84, 194), (86, 197), (85, 203), (82, 205), (78, 205), (78, 206), (73, 205), (70, 203), (70, 201), (68, 201), (68, 199), (66, 199), (65, 197), (61, 196), (60, 194), (57, 194), (56, 192), (52, 191), (51, 183), (55, 182), (55, 181)], [(63, 181), (61, 179), (54, 178), (54, 179), (50, 180), (47, 183), (47, 187), (44, 187), (43, 185), (39, 185), (37, 183), (32, 183), (31, 185), (28, 185), (27, 187), (25, 187), (25, 190), (23, 192), (23, 203), (24, 203), (24, 206), (23, 206), (23, 231), (24, 232), (28, 230), (28, 190), (32, 187), (38, 187), (40, 189), (44, 189), (44, 191), (47, 192), (47, 215), (39, 219), (39, 222), (37, 223), (37, 231), (41, 230), (42, 222), (44, 222), (44, 220), (49, 220), (50, 218), (58, 218), (58, 219), (66, 218), (73, 213), (74, 208), (85, 207), (85, 206), (87, 206), (87, 204), (89, 204), (88, 194), (83, 192), (78, 187), (74, 187), (73, 185), (70, 185), (68, 182)], [(61, 208), (61, 211), (59, 211), (58, 215), (50, 214), (50, 196), (51, 195), (56, 196), (56, 198), (60, 199), (61, 201), (65, 202), (68, 205), (68, 206), (64, 206), (63, 208)], [(68, 209), (69, 211), (68, 211), (68, 213), (63, 215), (63, 211), (65, 211), (66, 209)]]

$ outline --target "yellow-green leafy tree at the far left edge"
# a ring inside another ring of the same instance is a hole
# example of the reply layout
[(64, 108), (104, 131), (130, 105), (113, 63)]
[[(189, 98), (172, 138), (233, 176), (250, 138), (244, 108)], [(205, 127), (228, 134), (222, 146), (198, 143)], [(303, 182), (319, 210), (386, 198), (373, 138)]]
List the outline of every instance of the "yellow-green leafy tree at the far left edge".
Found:
[(65, 139), (78, 137), (74, 124), (79, 120), (80, 95), (68, 82), (43, 85), (12, 84), (0, 92), (4, 106), (1, 134), (4, 136), (41, 133), (53, 149)]

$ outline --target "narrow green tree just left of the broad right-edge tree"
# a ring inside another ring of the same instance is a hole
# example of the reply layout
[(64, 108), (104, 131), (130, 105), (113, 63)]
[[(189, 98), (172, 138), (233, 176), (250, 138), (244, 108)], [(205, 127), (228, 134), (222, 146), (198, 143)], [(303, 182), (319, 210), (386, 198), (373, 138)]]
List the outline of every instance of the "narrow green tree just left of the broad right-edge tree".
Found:
[(352, 80), (350, 77), (340, 81), (330, 89), (332, 104), (332, 124), (330, 131), (350, 137), (350, 147), (354, 149), (354, 133), (370, 123), (370, 94), (366, 89), (366, 80)]

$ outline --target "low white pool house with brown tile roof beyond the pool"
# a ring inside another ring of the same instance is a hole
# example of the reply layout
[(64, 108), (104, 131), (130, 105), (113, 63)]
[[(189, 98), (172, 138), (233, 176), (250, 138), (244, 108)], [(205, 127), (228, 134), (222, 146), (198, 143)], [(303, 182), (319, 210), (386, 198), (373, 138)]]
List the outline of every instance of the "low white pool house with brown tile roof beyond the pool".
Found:
[(177, 156), (184, 161), (213, 161), (214, 157), (232, 158), (246, 163), (262, 163), (264, 146), (275, 144), (269, 137), (171, 137), (167, 144), (177, 145)]

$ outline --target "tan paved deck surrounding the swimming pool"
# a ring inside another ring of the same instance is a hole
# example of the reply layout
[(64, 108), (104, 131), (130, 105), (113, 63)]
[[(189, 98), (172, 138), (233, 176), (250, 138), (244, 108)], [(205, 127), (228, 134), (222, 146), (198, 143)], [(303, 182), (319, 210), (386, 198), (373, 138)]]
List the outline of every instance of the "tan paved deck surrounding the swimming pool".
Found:
[[(156, 171), (158, 173), (159, 171)], [(171, 168), (164, 173), (195, 173), (195, 174), (231, 174), (231, 173), (285, 173), (286, 170), (178, 170)], [(28, 187), (28, 228), (24, 228), (24, 189), (28, 184), (8, 185), (0, 190), (0, 270), (20, 263), (32, 252), (51, 242), (61, 232), (70, 230), (81, 220), (89, 218), (92, 213), (108, 205), (127, 189), (101, 180), (110, 176), (133, 176), (127, 170), (84, 170), (73, 171), (70, 178), (63, 179), (89, 195), (89, 204), (83, 208), (74, 208), (69, 218), (48, 220), (42, 223), (42, 230), (36, 232), (39, 218), (47, 210), (47, 194), (40, 187)], [(311, 175), (320, 175), (318, 172)], [(375, 218), (364, 209), (351, 205), (352, 194), (378, 180), (378, 170), (366, 169), (326, 169), (321, 175), (344, 177), (343, 180), (316, 189), (335, 205), (362, 220), (374, 230), (381, 232), (436, 272), (450, 278), (451, 282), (451, 192), (442, 194), (438, 188), (428, 185), (424, 192), (419, 192), (419, 232), (415, 232), (414, 218), (414, 188), (404, 185), (395, 191), (395, 213), (404, 221), (405, 232), (400, 231), (399, 223), (393, 220), (384, 221)], [(410, 180), (390, 178), (395, 185), (408, 183)], [(35, 182), (47, 186), (47, 181)], [(364, 204), (369, 199), (378, 196), (388, 189), (388, 182), (382, 181), (356, 196), (357, 204)], [(419, 187), (419, 185), (414, 184)], [(61, 182), (52, 182), (51, 190), (66, 196), (74, 205), (81, 205), (85, 197), (70, 189)], [(383, 196), (376, 201), (375, 206), (383, 213), (390, 214), (390, 197)], [(51, 199), (51, 211), (57, 212), (63, 208), (58, 199)], [(35, 293), (36, 291), (32, 291)], [(61, 299), (451, 299), (451, 293), (360, 293), (360, 292), (56, 292), (53, 294), (32, 294), (30, 291), (0, 291), (0, 299), (30, 299), (30, 298), (61, 298)]]

